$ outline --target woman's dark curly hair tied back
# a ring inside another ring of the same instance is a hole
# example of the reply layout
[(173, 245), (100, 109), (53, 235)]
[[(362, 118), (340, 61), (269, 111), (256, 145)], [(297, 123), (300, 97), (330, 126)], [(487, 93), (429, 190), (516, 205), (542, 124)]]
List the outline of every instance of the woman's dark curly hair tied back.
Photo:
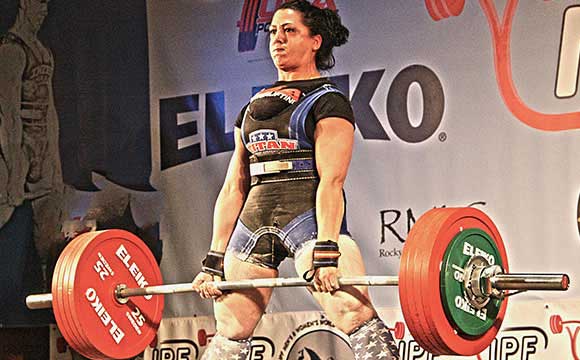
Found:
[(349, 31), (342, 25), (336, 11), (321, 9), (306, 0), (292, 0), (282, 4), (276, 11), (291, 9), (302, 13), (302, 22), (310, 30), (310, 35), (320, 35), (322, 45), (316, 52), (316, 68), (328, 70), (334, 67), (332, 49), (348, 41)]

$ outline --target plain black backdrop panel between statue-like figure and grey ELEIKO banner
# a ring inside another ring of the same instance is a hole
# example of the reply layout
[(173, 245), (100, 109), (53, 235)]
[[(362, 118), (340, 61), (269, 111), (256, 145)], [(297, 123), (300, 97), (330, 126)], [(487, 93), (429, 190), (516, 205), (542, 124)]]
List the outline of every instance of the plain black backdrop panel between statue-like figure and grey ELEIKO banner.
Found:
[(145, 0), (49, 5), (64, 182), (92, 190), (91, 172), (153, 190)]

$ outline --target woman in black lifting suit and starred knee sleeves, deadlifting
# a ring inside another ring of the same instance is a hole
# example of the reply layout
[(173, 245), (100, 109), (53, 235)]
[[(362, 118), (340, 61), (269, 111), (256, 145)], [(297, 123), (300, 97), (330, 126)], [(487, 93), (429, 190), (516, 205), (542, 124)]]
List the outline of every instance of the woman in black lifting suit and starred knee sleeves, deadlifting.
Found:
[(246, 359), (272, 295), (270, 288), (222, 293), (209, 282), (274, 278), (286, 257), (295, 258), (299, 274), (312, 277), (313, 296), (357, 343), (357, 358), (398, 359), (367, 288), (338, 285), (339, 276), (365, 273), (347, 229), (343, 191), (354, 115), (348, 98), (320, 72), (334, 66), (332, 50), (348, 35), (336, 12), (305, 0), (274, 13), (270, 56), (278, 81), (238, 116), (210, 251), (193, 282), (201, 297), (216, 299), (217, 335), (203, 359)]

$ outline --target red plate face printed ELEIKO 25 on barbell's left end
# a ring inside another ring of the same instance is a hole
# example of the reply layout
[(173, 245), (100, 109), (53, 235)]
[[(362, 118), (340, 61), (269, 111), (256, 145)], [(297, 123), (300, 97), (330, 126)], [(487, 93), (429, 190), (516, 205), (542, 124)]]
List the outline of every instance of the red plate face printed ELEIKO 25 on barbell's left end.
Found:
[(119, 284), (129, 288), (160, 285), (161, 272), (151, 251), (135, 235), (105, 230), (91, 236), (71, 264), (79, 328), (95, 351), (105, 357), (134, 357), (155, 338), (164, 299), (140, 296), (120, 304), (114, 291)]

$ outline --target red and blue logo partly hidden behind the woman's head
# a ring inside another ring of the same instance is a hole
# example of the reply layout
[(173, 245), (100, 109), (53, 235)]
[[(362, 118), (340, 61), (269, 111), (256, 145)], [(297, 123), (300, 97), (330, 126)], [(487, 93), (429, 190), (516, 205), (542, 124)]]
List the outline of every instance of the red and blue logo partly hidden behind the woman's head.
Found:
[[(240, 28), (238, 35), (238, 51), (253, 51), (258, 42), (260, 32), (267, 33), (274, 11), (288, 0), (244, 0), (242, 15), (237, 26)], [(321, 9), (336, 11), (334, 0), (314, 0), (312, 5)]]

